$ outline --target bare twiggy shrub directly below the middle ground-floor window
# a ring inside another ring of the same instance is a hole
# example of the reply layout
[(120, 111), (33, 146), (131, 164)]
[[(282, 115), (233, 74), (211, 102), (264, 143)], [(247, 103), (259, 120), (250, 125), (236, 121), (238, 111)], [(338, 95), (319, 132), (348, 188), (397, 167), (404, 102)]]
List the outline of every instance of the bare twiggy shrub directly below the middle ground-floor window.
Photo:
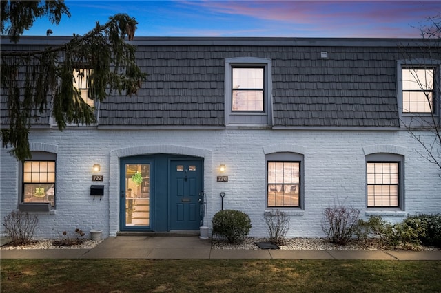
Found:
[(285, 244), (285, 236), (289, 230), (289, 217), (280, 210), (265, 213), (265, 223), (267, 224), (269, 241), (280, 246)]

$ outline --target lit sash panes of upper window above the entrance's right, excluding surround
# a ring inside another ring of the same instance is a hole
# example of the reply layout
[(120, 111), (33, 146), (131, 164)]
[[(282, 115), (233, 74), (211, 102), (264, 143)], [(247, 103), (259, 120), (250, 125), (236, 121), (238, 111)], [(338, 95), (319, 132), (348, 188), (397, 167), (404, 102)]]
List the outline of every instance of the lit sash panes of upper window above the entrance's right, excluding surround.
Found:
[(232, 68), (232, 111), (263, 111), (264, 69)]

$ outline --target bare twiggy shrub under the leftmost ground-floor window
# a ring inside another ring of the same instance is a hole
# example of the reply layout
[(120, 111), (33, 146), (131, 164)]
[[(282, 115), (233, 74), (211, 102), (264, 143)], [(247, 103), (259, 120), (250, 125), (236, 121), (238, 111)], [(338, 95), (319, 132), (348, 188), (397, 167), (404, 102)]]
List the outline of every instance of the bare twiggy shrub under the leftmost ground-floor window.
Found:
[(11, 244), (13, 246), (32, 242), (34, 230), (39, 222), (37, 215), (31, 216), (28, 213), (17, 210), (12, 211), (3, 219), (3, 226), (6, 228), (6, 233), (11, 237)]

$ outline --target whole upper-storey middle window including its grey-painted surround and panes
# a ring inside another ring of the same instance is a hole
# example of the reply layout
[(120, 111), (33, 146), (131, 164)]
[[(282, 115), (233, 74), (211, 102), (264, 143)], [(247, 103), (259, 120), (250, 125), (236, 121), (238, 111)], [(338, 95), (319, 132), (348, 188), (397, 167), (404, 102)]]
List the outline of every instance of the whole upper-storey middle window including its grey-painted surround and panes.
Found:
[(271, 125), (271, 60), (240, 57), (225, 60), (225, 125)]

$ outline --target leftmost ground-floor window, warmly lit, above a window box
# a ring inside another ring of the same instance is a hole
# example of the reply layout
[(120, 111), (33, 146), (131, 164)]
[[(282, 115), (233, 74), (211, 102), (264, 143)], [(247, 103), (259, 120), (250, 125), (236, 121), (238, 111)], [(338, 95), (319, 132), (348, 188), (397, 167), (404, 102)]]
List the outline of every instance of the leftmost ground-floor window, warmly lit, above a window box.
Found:
[(55, 206), (55, 154), (37, 152), (22, 166), (21, 202)]

